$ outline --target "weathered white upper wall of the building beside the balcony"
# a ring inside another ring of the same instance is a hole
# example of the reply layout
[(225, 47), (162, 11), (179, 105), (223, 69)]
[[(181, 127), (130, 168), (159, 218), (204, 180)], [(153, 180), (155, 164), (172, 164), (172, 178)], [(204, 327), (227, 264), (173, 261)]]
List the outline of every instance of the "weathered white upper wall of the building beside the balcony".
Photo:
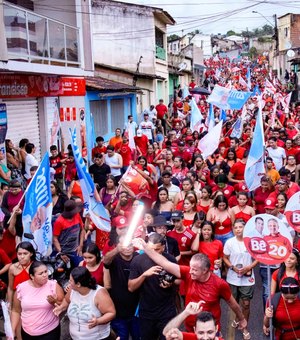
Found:
[(143, 7), (115, 4), (92, 7), (94, 61), (140, 72), (154, 73), (153, 14)]

